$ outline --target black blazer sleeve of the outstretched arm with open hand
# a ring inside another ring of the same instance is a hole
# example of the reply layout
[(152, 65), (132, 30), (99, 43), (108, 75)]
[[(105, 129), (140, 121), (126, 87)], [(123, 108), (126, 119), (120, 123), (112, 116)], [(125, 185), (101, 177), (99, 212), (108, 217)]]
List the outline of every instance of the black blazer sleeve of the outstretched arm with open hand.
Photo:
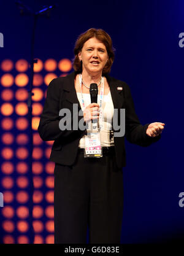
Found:
[(137, 117), (134, 102), (131, 96), (131, 90), (129, 86), (125, 83), (125, 137), (126, 139), (133, 143), (140, 145), (142, 147), (147, 147), (153, 142), (158, 141), (161, 138), (161, 134), (154, 138), (146, 134), (148, 125), (142, 125)]

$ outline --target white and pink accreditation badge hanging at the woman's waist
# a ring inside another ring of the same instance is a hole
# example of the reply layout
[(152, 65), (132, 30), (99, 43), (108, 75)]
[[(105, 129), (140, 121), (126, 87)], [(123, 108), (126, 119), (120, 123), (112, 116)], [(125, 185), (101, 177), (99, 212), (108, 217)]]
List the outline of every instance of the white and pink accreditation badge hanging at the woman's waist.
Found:
[(102, 147), (99, 131), (88, 133), (85, 136), (84, 157), (102, 157)]

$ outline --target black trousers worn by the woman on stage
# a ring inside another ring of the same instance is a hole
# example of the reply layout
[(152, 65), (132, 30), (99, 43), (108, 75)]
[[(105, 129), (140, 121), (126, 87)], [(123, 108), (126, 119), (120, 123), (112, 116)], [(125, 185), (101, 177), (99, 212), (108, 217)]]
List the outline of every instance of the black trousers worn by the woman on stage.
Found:
[(73, 166), (55, 164), (55, 243), (120, 243), (123, 171), (115, 153), (84, 158)]

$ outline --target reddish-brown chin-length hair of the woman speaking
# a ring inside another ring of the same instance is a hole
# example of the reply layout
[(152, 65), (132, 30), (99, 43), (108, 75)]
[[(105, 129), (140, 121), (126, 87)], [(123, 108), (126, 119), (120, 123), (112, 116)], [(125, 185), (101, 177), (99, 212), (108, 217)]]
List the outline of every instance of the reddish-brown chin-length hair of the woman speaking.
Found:
[(73, 62), (74, 70), (77, 71), (77, 73), (82, 72), (82, 61), (79, 60), (78, 54), (82, 50), (85, 42), (92, 37), (96, 37), (106, 47), (109, 59), (105, 64), (102, 73), (103, 74), (109, 73), (114, 60), (115, 49), (112, 46), (112, 39), (110, 38), (109, 34), (107, 34), (103, 29), (96, 29), (96, 28), (88, 29), (85, 33), (80, 34), (80, 36), (77, 38), (77, 41), (75, 42), (75, 48), (74, 48), (74, 55), (75, 55), (74, 62)]

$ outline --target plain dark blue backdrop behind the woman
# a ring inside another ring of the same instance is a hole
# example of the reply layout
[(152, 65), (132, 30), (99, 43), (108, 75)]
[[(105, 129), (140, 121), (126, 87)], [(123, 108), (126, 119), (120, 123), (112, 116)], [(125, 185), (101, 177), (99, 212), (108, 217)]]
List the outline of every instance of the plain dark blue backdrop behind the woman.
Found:
[[(75, 40), (89, 28), (102, 28), (115, 47), (111, 76), (131, 88), (142, 124), (166, 123), (162, 138), (147, 148), (126, 142), (123, 168), (123, 243), (175, 241), (184, 237), (183, 60), (178, 35), (184, 32), (181, 0), (23, 1), (34, 10), (57, 4), (39, 18), (35, 57), (72, 60)], [(21, 17), (14, 1), (1, 1), (0, 32), (5, 58), (29, 60), (31, 17)]]

